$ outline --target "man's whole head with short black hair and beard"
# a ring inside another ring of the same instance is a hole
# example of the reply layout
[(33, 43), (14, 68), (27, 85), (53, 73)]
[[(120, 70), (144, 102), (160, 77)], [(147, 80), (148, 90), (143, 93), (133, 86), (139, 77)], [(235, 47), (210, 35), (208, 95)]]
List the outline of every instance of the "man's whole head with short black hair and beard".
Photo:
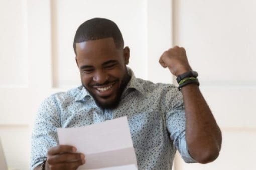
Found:
[(78, 27), (73, 47), (83, 86), (101, 108), (116, 107), (130, 80), (130, 49), (123, 48), (117, 25), (104, 18), (87, 20)]

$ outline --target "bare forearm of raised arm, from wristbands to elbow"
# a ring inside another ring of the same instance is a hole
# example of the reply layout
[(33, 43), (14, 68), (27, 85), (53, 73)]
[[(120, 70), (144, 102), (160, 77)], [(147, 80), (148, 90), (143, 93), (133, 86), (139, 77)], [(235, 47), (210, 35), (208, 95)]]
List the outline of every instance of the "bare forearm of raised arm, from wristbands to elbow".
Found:
[(201, 163), (217, 158), (221, 148), (221, 131), (199, 87), (181, 88), (186, 112), (186, 141), (191, 156)]

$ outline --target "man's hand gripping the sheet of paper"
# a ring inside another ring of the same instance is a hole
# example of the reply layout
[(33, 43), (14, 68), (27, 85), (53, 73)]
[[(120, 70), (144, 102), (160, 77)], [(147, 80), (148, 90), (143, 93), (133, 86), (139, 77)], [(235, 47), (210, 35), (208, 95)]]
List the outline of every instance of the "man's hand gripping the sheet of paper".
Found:
[(70, 145), (57, 145), (48, 150), (45, 169), (77, 169), (85, 163), (83, 153), (77, 153), (76, 148)]

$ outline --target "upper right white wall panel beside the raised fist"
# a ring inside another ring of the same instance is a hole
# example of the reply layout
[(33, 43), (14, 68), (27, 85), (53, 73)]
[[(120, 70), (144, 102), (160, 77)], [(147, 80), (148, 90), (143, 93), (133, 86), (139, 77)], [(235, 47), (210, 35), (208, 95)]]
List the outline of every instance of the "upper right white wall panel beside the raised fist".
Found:
[(174, 2), (175, 43), (186, 47), (200, 81), (255, 85), (255, 0)]

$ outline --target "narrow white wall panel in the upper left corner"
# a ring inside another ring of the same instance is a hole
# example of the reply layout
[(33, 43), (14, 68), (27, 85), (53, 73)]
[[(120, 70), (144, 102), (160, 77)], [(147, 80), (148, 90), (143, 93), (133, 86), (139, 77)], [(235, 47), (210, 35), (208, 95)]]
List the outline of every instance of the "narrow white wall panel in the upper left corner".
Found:
[(28, 86), (26, 0), (0, 1), (0, 88)]

